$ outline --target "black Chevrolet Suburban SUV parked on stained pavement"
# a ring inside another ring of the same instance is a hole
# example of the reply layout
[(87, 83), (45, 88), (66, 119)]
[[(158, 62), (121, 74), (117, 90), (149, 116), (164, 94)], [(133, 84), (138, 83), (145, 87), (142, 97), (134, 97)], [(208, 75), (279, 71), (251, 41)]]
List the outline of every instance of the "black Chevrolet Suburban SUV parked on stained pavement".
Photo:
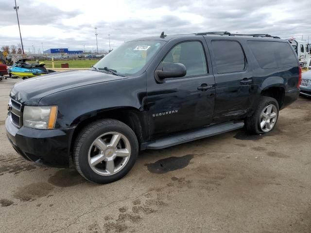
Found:
[(299, 95), (298, 58), (267, 34), (162, 33), (123, 43), (89, 70), (48, 74), (11, 91), (7, 136), (25, 159), (109, 183), (139, 150), (242, 127), (267, 133)]

